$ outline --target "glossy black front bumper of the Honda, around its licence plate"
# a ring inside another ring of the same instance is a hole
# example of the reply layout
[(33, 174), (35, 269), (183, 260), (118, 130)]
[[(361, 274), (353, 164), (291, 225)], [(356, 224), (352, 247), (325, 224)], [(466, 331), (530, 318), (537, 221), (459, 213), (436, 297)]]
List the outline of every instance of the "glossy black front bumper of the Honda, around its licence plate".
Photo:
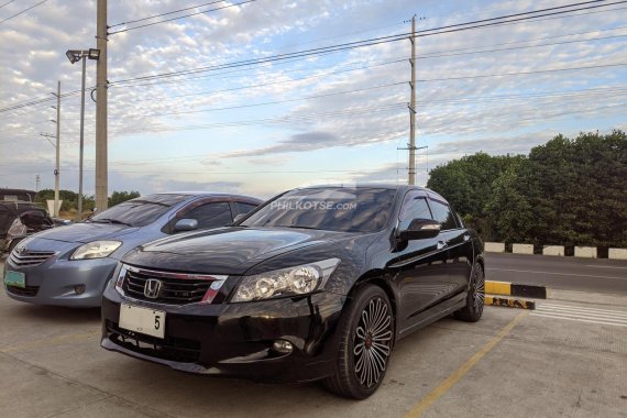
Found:
[[(320, 293), (243, 304), (170, 306), (129, 301), (112, 286), (102, 298), (102, 348), (208, 375), (260, 382), (297, 383), (334, 373), (336, 328), (345, 297)], [(158, 339), (118, 327), (120, 304), (166, 312), (165, 338)], [(276, 340), (294, 350), (273, 350)]]

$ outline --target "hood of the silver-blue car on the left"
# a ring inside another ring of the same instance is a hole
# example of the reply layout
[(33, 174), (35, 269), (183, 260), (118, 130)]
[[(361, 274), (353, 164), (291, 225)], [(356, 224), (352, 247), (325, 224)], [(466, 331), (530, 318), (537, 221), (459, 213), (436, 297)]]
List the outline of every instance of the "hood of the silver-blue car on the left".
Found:
[(121, 224), (85, 222), (53, 228), (35, 237), (53, 241), (86, 243), (97, 240), (114, 240), (138, 230), (139, 228)]

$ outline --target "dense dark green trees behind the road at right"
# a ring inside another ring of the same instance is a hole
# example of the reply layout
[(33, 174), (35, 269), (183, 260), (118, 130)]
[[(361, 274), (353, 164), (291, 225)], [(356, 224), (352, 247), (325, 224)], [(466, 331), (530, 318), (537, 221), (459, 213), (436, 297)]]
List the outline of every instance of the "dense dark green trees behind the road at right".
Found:
[(430, 172), (485, 241), (627, 248), (627, 135), (557, 135), (528, 155), (476, 153)]

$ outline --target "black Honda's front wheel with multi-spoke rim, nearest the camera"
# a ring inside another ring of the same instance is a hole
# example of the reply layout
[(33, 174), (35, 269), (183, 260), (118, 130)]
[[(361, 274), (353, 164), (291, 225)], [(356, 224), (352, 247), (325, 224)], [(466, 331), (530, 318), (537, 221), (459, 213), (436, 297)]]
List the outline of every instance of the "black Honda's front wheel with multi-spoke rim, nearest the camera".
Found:
[(385, 292), (365, 285), (343, 315), (336, 374), (322, 381), (331, 392), (365, 399), (376, 392), (387, 371), (394, 345), (394, 312)]

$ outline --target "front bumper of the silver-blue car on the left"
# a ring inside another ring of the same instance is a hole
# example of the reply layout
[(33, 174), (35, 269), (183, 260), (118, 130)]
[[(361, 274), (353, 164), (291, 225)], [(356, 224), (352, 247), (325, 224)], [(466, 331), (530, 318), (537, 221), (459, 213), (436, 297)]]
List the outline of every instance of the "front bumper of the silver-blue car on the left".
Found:
[[(25, 288), (4, 286), (12, 299), (35, 305), (98, 307), (102, 300), (102, 290), (118, 261), (113, 258), (62, 260), (52, 257), (32, 266), (19, 267), (4, 262), (4, 271), (21, 272), (26, 277)], [(84, 286), (80, 294), (77, 289)]]

